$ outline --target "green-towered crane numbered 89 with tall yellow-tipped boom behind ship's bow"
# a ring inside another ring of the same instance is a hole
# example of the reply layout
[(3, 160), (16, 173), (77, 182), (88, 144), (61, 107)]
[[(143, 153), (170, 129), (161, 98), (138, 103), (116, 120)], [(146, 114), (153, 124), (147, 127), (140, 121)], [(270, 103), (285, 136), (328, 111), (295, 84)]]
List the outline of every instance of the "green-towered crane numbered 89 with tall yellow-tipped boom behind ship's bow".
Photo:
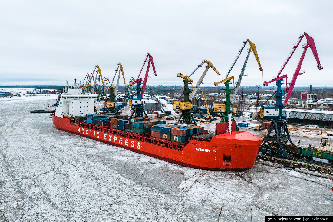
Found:
[[(226, 103), (228, 103), (228, 105), (225, 104), (225, 108), (226, 109), (225, 109), (225, 111), (222, 111), (223, 114), (222, 114), (222, 117), (221, 117), (221, 122), (226, 122), (228, 120), (228, 114), (230, 113), (229, 103), (230, 103), (230, 105), (232, 105), (234, 103), (236, 95), (237, 95), (237, 92), (238, 92), (238, 89), (239, 89), (239, 86), (240, 86), (240, 82), (241, 82), (243, 76), (248, 76), (247, 73), (244, 73), (244, 72), (245, 72), (245, 67), (246, 67), (246, 64), (247, 64), (247, 60), (248, 60), (249, 55), (250, 55), (251, 52), (253, 52), (254, 57), (257, 60), (257, 63), (259, 65), (259, 70), (260, 71), (263, 70), (261, 68), (261, 64), (260, 64), (260, 61), (259, 61), (259, 56), (258, 56), (258, 53), (257, 53), (257, 49), (255, 47), (255, 44), (253, 42), (251, 42), (249, 39), (246, 39), (246, 40), (243, 41), (243, 45), (242, 45), (241, 49), (238, 50), (238, 54), (235, 57), (232, 65), (230, 66), (229, 71), (227, 72), (226, 77), (225, 77), (224, 80), (226, 80), (228, 78), (228, 76), (229, 76), (232, 68), (234, 67), (235, 63), (237, 62), (237, 60), (238, 60), (238, 58), (240, 56), (240, 54), (242, 53), (243, 49), (245, 48), (246, 43), (249, 43), (250, 48), (246, 50), (246, 52), (247, 52), (246, 59), (244, 61), (243, 67), (242, 67), (240, 75), (238, 77), (238, 81), (236, 82), (236, 87), (234, 86), (233, 93), (231, 93), (231, 91), (229, 90), (229, 86), (227, 86), (227, 84), (229, 84), (230, 82), (229, 81), (224, 81), (225, 85), (226, 85), (226, 88), (228, 88), (228, 90), (226, 90), (226, 93), (228, 93), (228, 96), (226, 95)], [(219, 83), (221, 83), (221, 82), (219, 82)], [(215, 82), (214, 85), (216, 84), (215, 86), (217, 86), (219, 83)], [(229, 97), (229, 98), (227, 99), (227, 97)], [(217, 101), (217, 99), (216, 99), (216, 101)], [(228, 100), (228, 102), (227, 102), (227, 100)], [(224, 107), (224, 104), (223, 103), (216, 103), (216, 101), (213, 102), (213, 112), (221, 113), (221, 111), (220, 111), (221, 109), (218, 108), (218, 107)], [(214, 107), (216, 107), (216, 109)]]

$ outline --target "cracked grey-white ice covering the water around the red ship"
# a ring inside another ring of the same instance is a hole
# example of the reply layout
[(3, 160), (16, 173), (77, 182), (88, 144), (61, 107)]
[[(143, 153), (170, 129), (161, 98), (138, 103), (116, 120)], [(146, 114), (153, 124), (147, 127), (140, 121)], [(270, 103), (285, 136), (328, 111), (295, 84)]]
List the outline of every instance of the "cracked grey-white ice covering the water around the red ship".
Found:
[(332, 215), (332, 181), (255, 164), (181, 167), (60, 131), (30, 114), (55, 97), (1, 98), (0, 221), (263, 221)]

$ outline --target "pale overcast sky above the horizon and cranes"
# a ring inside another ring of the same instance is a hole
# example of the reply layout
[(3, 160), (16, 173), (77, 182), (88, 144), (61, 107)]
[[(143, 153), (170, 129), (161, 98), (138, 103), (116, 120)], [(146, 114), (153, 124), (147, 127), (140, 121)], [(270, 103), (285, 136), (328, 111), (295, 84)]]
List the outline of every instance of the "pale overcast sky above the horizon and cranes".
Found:
[[(181, 85), (177, 73), (188, 75), (201, 60), (221, 73), (209, 69), (204, 82), (213, 85), (225, 77), (247, 38), (256, 45), (263, 80), (269, 81), (303, 32), (315, 41), (323, 86), (333, 85), (332, 1), (0, 1), (0, 8), (0, 85), (65, 85), (82, 81), (96, 64), (112, 79), (119, 62), (128, 82), (137, 78), (148, 52), (157, 77), (151, 69), (147, 85)], [(301, 45), (282, 72), (288, 80)], [(235, 78), (247, 48), (230, 74)], [(295, 86), (320, 86), (316, 66), (308, 49), (305, 74)], [(192, 76), (194, 83), (203, 71)], [(244, 85), (261, 84), (253, 53), (245, 72)]]

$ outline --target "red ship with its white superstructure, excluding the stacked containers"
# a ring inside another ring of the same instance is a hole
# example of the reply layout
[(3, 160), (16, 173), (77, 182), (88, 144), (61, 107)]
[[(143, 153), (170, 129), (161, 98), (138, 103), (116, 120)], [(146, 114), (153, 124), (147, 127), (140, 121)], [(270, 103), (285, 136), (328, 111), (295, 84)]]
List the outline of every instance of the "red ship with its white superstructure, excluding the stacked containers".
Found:
[[(152, 137), (150, 132), (138, 134), (82, 120), (76, 122), (75, 116), (94, 112), (96, 98), (96, 94), (83, 93), (79, 86), (69, 88), (67, 93), (62, 93), (56, 112), (52, 114), (53, 124), (69, 133), (185, 167), (221, 171), (244, 171), (253, 167), (261, 139), (245, 131), (216, 136), (200, 131), (190, 136), (187, 142), (180, 143)], [(219, 129), (216, 131), (220, 132)]]

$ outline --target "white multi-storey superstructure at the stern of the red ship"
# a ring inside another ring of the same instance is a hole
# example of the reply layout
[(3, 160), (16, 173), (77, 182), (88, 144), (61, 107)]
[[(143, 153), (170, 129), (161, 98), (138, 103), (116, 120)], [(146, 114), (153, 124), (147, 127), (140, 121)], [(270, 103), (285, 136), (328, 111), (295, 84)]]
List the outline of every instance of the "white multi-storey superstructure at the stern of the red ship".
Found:
[(68, 93), (62, 93), (55, 115), (58, 117), (84, 116), (87, 113), (95, 113), (95, 100), (98, 95), (82, 93), (82, 88), (73, 86)]

